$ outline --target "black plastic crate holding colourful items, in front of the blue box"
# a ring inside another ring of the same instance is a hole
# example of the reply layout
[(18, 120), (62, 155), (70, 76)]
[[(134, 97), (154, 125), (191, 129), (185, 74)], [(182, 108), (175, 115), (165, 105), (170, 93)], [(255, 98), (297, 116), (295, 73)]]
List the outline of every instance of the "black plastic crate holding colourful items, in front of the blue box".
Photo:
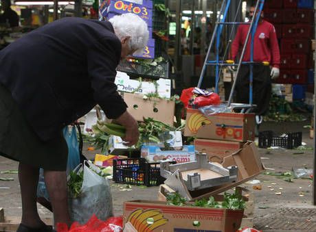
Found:
[(148, 163), (144, 158), (114, 159), (113, 181), (147, 187), (160, 185), (164, 179), (160, 176), (159, 164)]

